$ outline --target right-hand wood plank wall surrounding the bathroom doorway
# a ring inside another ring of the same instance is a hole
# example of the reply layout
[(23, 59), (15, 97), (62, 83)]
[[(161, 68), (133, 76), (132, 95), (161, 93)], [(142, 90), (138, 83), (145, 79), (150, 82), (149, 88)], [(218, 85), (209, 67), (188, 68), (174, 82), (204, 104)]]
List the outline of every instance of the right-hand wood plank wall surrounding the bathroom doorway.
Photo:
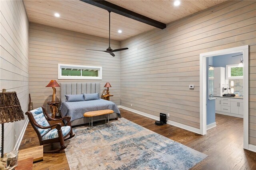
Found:
[(250, 45), (249, 138), (256, 145), (255, 28), (256, 2), (228, 1), (121, 41), (129, 48), (121, 53), (121, 105), (170, 113), (170, 120), (199, 129), (200, 53)]

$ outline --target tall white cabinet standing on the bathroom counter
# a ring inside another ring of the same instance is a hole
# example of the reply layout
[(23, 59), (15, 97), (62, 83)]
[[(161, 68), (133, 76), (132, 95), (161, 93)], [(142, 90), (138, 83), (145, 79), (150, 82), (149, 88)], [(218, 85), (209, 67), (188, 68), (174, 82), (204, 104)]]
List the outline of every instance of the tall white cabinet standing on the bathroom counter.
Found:
[(223, 88), (225, 85), (225, 68), (215, 67), (214, 68), (214, 96), (222, 96)]

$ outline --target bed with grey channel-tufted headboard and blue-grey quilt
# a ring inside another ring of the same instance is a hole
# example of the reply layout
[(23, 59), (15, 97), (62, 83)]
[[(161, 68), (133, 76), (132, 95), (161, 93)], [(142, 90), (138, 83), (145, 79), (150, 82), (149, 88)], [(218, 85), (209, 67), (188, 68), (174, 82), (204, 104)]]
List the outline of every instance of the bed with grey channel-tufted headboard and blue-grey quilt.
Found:
[[(66, 94), (94, 94), (100, 92), (100, 83), (92, 82), (77, 82), (77, 83), (60, 83), (60, 115), (70, 116), (71, 125), (82, 125), (89, 123), (89, 117), (84, 117), (83, 114), (87, 111), (96, 111), (111, 109), (114, 113), (110, 114), (110, 119), (121, 117), (120, 111), (114, 102), (108, 100), (90, 100), (80, 102), (66, 102)], [(96, 116), (96, 119), (104, 119), (105, 115)]]

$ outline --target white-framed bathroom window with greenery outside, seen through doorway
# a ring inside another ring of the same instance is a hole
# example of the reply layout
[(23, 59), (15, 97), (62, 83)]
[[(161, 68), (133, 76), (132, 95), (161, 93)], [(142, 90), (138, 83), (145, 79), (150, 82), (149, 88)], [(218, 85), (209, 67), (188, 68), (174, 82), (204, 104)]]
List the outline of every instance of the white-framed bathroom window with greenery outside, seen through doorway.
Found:
[(226, 65), (226, 79), (242, 79), (244, 78), (244, 67), (238, 64)]

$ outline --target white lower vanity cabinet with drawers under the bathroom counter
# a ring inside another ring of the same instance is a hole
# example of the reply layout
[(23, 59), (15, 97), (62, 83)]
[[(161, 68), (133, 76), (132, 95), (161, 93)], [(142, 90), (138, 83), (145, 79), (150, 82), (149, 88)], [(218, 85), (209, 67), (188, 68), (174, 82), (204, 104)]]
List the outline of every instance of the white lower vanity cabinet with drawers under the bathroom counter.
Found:
[(215, 97), (215, 112), (222, 115), (244, 117), (243, 99)]

